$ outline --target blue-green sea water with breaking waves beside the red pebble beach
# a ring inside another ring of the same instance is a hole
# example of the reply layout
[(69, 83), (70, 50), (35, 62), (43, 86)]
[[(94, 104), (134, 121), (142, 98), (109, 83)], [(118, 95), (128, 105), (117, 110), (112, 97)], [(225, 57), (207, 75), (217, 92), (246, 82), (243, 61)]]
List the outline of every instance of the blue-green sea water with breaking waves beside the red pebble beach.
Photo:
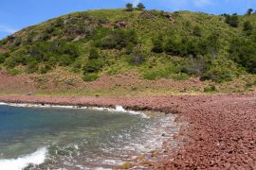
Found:
[(0, 169), (19, 169), (33, 159), (50, 168), (117, 167), (129, 155), (154, 149), (165, 119), (162, 114), (147, 118), (124, 111), (1, 105)]

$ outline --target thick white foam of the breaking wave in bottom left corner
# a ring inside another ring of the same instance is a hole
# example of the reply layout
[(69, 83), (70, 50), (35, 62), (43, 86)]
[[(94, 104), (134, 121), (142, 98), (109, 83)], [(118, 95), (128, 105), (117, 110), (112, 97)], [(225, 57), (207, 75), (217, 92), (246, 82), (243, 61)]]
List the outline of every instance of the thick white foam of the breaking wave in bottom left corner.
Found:
[(47, 149), (46, 147), (38, 149), (36, 152), (29, 155), (9, 160), (0, 160), (0, 169), (3, 170), (21, 170), (25, 168), (29, 163), (41, 164), (46, 160)]

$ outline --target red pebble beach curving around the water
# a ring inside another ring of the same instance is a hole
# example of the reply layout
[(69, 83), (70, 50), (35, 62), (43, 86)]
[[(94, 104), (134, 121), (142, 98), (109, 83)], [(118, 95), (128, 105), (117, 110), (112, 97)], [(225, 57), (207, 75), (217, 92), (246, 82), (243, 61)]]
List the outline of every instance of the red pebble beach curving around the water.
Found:
[(149, 163), (152, 169), (256, 169), (256, 94), (163, 97), (0, 96), (0, 101), (114, 107), (177, 113), (189, 127), (170, 158)]

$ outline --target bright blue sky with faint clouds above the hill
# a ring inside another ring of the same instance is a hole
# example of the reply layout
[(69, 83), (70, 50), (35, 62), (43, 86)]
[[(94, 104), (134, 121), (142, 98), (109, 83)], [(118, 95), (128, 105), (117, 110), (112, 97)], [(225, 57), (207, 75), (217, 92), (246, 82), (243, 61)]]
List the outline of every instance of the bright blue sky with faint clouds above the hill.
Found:
[(74, 11), (124, 8), (143, 3), (147, 9), (192, 10), (211, 14), (244, 14), (256, 9), (256, 0), (0, 0), (0, 39), (24, 27)]

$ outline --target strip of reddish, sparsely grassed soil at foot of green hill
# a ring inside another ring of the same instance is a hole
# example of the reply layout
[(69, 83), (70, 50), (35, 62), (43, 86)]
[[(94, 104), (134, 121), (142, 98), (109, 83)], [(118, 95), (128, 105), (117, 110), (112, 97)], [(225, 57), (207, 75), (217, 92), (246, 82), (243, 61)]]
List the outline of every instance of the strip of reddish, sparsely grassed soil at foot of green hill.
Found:
[[(230, 82), (217, 84), (200, 81), (199, 78), (174, 80), (160, 78), (147, 80), (137, 73), (116, 76), (102, 75), (93, 82), (82, 81), (82, 75), (72, 74), (58, 68), (46, 75), (23, 74), (9, 76), (0, 71), (0, 93), (2, 94), (63, 94), (63, 95), (166, 95), (174, 93), (203, 93), (204, 89), (214, 86), (219, 93), (255, 92), (255, 86), (246, 88), (247, 82), (254, 82), (255, 77), (240, 77)], [(254, 88), (254, 89), (253, 89)]]

